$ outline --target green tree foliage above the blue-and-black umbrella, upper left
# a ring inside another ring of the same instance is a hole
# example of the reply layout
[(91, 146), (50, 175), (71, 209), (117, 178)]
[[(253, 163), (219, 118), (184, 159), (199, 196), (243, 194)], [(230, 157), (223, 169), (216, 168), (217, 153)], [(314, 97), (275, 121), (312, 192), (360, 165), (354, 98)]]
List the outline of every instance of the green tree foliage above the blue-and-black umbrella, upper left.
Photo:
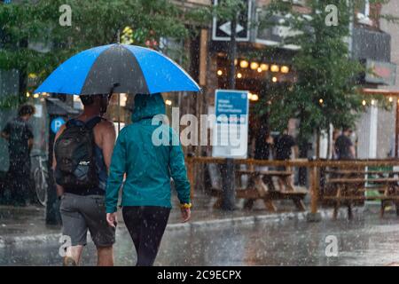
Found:
[[(72, 8), (72, 26), (59, 25), (59, 6)], [(168, 0), (39, 0), (0, 5), (0, 68), (37, 75), (37, 83), (78, 51), (116, 43), (126, 27), (134, 44), (147, 38), (184, 40), (190, 36), (183, 11)], [(40, 43), (51, 51), (31, 48)], [(24, 86), (21, 86), (22, 88)], [(33, 91), (31, 86), (28, 91)], [(24, 97), (27, 90), (20, 90)]]

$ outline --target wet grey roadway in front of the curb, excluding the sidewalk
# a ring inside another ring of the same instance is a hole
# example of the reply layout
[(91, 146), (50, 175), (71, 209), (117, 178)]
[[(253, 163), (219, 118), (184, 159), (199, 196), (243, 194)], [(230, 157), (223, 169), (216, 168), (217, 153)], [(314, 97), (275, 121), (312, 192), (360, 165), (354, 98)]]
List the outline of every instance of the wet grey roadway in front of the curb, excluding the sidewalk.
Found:
[[(161, 243), (157, 265), (388, 265), (399, 262), (399, 222), (395, 215), (380, 219), (366, 209), (354, 220), (345, 217), (321, 223), (303, 218), (255, 222), (210, 221), (189, 226), (170, 226)], [(325, 238), (337, 237), (339, 255), (325, 256)], [(1, 265), (59, 265), (57, 241), (0, 248)], [(117, 233), (115, 264), (135, 264), (129, 234)], [(95, 264), (90, 244), (83, 264)]]

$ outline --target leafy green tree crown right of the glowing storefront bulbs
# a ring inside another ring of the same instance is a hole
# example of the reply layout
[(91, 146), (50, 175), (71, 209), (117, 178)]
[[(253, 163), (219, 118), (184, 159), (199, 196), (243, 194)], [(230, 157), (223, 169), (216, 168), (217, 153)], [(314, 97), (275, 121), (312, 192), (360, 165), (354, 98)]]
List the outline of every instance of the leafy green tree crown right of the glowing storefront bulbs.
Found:
[[(338, 8), (338, 26), (325, 25), (327, 4)], [(286, 38), (284, 44), (301, 46), (293, 57), (293, 70), (298, 79), (292, 85), (279, 86), (267, 101), (260, 106), (270, 109), (272, 128), (281, 129), (288, 119), (300, 120), (300, 139), (306, 140), (315, 131), (327, 129), (332, 123), (353, 125), (357, 115), (364, 110), (363, 97), (357, 92), (356, 78), (364, 67), (357, 60), (349, 58), (347, 39), (349, 22), (354, 12), (353, 2), (342, 0), (309, 0), (309, 16), (295, 12), (293, 4), (271, 1), (262, 19), (268, 26), (270, 16), (275, 13), (290, 14), (283, 25), (297, 30), (296, 36)], [(272, 105), (268, 105), (268, 103)]]

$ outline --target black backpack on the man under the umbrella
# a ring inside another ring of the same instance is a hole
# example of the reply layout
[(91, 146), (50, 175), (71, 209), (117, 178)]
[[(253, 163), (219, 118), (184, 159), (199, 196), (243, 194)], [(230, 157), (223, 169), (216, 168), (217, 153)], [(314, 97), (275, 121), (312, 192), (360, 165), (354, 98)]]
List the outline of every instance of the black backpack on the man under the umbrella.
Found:
[(90, 190), (98, 186), (94, 154), (93, 128), (101, 117), (88, 122), (72, 119), (54, 144), (57, 161), (55, 180), (58, 185), (73, 190)]

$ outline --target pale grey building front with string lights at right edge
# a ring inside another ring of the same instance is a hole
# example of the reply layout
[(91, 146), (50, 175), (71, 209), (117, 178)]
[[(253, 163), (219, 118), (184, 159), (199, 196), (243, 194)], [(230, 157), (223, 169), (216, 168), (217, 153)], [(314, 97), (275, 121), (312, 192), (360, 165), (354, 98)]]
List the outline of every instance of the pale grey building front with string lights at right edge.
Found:
[(378, 23), (357, 23), (351, 47), (353, 58), (360, 60), (366, 70), (360, 77), (365, 97), (364, 113), (356, 123), (357, 157), (397, 156), (396, 65), (391, 62), (391, 35), (379, 30)]

